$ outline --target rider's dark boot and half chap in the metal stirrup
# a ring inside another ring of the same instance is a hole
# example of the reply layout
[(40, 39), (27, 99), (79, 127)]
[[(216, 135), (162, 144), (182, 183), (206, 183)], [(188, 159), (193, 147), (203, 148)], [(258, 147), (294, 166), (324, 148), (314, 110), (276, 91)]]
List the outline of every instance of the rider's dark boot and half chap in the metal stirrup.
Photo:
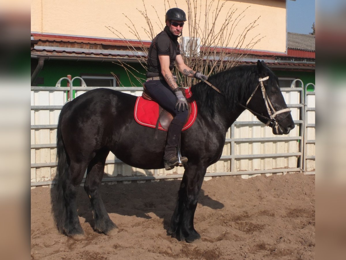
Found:
[(179, 137), (184, 123), (180, 120), (173, 118), (167, 133), (167, 141), (165, 147), (165, 154), (163, 156), (164, 166), (166, 170), (171, 170), (181, 163), (188, 162), (188, 158), (180, 157), (180, 162), (177, 156), (177, 147), (179, 144)]

